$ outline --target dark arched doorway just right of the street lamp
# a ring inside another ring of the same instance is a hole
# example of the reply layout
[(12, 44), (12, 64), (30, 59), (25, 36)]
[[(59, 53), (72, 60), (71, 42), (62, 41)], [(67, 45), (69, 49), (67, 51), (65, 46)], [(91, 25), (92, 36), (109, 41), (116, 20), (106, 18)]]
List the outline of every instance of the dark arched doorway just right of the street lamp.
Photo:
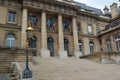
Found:
[(35, 36), (33, 36), (32, 38), (29, 39), (29, 47), (33, 48), (33, 50), (32, 50), (33, 56), (37, 56), (37, 54), (36, 54), (37, 39)]

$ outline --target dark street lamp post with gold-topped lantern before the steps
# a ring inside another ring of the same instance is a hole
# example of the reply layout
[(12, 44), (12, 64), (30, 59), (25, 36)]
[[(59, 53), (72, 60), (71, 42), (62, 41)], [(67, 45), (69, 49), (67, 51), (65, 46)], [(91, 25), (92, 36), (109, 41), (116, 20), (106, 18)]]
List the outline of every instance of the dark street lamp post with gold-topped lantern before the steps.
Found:
[(29, 53), (29, 39), (32, 38), (32, 33), (33, 33), (33, 28), (32, 28), (32, 22), (29, 23), (28, 28), (26, 29), (27, 32), (27, 41), (26, 41), (26, 68), (22, 73), (23, 78), (32, 78), (32, 71), (29, 69), (28, 65), (28, 53)]

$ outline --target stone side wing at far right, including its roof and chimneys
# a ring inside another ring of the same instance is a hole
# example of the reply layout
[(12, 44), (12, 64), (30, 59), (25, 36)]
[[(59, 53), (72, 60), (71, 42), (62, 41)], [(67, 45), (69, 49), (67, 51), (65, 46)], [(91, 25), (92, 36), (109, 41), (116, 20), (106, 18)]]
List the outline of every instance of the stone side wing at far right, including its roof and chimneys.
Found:
[(105, 7), (105, 15), (111, 17), (109, 24), (105, 29), (100, 31), (99, 39), (101, 41), (101, 49), (104, 52), (120, 51), (120, 8), (117, 3), (113, 3), (109, 8)]

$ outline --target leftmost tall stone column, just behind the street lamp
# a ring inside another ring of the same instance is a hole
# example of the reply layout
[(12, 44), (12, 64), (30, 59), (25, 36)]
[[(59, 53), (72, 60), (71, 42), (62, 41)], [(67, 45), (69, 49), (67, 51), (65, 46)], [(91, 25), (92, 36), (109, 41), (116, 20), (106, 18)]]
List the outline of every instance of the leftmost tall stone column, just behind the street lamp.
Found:
[(27, 16), (28, 11), (27, 8), (23, 8), (23, 14), (22, 14), (22, 30), (21, 30), (21, 47), (26, 47), (26, 29), (27, 29)]

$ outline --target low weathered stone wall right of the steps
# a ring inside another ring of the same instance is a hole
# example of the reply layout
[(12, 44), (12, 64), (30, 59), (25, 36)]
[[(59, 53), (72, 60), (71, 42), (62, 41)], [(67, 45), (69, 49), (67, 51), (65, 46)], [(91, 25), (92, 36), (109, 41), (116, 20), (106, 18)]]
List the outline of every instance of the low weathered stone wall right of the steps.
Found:
[(86, 58), (98, 63), (117, 63), (120, 64), (120, 52), (96, 52), (94, 54), (85, 55)]

